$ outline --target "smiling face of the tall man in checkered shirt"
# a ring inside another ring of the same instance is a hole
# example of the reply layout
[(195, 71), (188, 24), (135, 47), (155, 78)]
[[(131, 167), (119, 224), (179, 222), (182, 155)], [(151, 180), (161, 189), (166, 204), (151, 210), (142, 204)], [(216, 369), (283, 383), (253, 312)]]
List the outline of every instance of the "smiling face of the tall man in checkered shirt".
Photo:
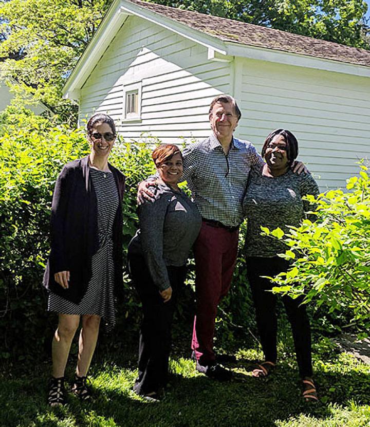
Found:
[(218, 140), (230, 139), (238, 119), (231, 103), (216, 102), (209, 115), (211, 128)]

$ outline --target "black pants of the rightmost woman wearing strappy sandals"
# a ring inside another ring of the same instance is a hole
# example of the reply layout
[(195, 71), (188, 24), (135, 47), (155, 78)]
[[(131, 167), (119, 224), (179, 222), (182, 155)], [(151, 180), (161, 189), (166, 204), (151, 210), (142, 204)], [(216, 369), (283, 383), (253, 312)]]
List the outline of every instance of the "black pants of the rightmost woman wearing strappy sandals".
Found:
[[(247, 276), (252, 290), (258, 332), (260, 333), (265, 360), (276, 362), (276, 333), (278, 321), (276, 319), (277, 295), (268, 292), (273, 284), (261, 276), (275, 276), (287, 271), (289, 262), (279, 256), (273, 258), (248, 257)], [(311, 362), (311, 328), (302, 298), (293, 300), (289, 296), (282, 297), (285, 310), (292, 328), (295, 354), (301, 377), (312, 376)]]

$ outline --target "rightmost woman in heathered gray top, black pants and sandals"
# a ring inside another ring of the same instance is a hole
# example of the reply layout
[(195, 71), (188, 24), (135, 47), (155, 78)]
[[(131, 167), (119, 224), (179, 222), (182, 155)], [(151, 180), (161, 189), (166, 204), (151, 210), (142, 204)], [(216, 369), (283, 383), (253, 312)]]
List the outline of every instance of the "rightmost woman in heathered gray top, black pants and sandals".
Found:
[[(256, 310), (265, 361), (253, 371), (255, 377), (266, 377), (276, 363), (275, 314), (276, 295), (271, 292), (272, 283), (264, 276), (275, 276), (289, 269), (289, 262), (278, 256), (288, 249), (278, 239), (261, 235), (261, 227), (270, 230), (287, 226), (299, 226), (309, 211), (309, 203), (302, 200), (308, 194), (317, 195), (319, 189), (310, 174), (294, 174), (290, 165), (297, 158), (298, 142), (294, 135), (284, 129), (276, 129), (266, 138), (262, 156), (266, 163), (250, 174), (243, 202), (248, 219), (245, 254), (247, 275)], [(317, 400), (316, 387), (312, 380), (310, 323), (302, 298), (293, 300), (283, 296), (283, 303), (293, 332), (295, 353), (306, 401)]]

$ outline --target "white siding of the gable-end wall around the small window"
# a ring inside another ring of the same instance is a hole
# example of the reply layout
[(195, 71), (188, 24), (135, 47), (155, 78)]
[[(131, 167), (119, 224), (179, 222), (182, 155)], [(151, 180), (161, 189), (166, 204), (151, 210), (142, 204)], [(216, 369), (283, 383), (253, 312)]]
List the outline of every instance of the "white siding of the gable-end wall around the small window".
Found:
[[(138, 17), (128, 18), (82, 88), (80, 121), (111, 115), (125, 140), (151, 134), (163, 142), (209, 135), (212, 98), (229, 93), (230, 65), (207, 49)], [(124, 85), (142, 81), (141, 121), (123, 119)]]

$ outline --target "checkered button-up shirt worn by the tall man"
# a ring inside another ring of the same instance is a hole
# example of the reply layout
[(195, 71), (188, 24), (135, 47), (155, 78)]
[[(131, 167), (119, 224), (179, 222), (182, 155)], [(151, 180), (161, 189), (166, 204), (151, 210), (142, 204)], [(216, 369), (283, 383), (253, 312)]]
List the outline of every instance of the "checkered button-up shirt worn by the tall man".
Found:
[(184, 179), (202, 217), (235, 227), (243, 221), (242, 202), (251, 168), (264, 163), (248, 141), (233, 138), (225, 155), (212, 135), (183, 152)]

